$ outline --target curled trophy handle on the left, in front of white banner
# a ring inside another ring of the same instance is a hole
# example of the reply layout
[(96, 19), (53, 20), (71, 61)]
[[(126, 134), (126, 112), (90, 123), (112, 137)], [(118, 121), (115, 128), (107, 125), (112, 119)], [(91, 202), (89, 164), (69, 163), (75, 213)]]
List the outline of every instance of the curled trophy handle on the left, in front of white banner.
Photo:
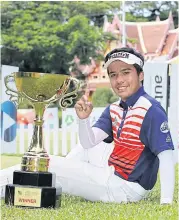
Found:
[(17, 98), (18, 98), (18, 96), (20, 98), (22, 98), (22, 97), (21, 97), (21, 93), (20, 92), (18, 92), (16, 90), (12, 89), (11, 87), (9, 87), (8, 83), (11, 82), (12, 79), (14, 81), (14, 74), (13, 73), (4, 77), (4, 84), (5, 84), (6, 88), (7, 88), (5, 93), (10, 96), (9, 100), (12, 101), (17, 106)]

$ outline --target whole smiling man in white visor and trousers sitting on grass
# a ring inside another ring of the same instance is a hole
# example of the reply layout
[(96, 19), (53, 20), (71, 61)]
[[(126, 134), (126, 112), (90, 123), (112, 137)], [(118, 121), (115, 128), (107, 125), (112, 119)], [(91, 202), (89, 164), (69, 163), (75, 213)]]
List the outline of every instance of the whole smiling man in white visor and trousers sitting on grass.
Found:
[[(104, 67), (121, 101), (109, 105), (93, 127), (92, 104), (86, 96), (76, 103), (84, 150), (66, 158), (51, 156), (49, 171), (56, 173), (57, 189), (60, 185), (63, 192), (91, 201), (137, 202), (154, 187), (159, 168), (160, 203), (172, 203), (174, 147), (165, 111), (142, 86), (143, 65), (143, 56), (133, 49), (107, 54)], [(1, 171), (1, 187), (12, 182), (18, 168)]]

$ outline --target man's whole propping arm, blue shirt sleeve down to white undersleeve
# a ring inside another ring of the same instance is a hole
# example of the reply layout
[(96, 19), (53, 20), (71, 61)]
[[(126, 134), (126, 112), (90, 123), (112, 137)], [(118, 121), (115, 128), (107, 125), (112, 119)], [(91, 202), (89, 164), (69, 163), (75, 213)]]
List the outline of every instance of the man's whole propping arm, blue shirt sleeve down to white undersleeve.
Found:
[(161, 204), (171, 204), (174, 192), (174, 157), (173, 142), (168, 128), (166, 112), (159, 105), (152, 106), (146, 115), (144, 132), (147, 145), (159, 158), (159, 174), (161, 184)]

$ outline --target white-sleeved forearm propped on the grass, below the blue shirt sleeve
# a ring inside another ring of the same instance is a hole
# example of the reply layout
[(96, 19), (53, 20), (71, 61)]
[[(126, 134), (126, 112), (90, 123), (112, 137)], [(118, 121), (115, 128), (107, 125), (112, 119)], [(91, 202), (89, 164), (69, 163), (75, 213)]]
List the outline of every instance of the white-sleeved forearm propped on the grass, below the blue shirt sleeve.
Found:
[(158, 154), (161, 196), (160, 204), (172, 204), (175, 185), (173, 151), (165, 150)]

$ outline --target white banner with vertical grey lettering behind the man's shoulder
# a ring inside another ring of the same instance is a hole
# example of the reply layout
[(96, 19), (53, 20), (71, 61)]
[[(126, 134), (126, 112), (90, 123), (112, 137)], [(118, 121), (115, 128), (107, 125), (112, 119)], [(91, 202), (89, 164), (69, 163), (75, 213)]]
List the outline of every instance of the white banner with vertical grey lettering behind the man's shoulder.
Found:
[(167, 63), (146, 62), (144, 65), (144, 89), (167, 110)]

